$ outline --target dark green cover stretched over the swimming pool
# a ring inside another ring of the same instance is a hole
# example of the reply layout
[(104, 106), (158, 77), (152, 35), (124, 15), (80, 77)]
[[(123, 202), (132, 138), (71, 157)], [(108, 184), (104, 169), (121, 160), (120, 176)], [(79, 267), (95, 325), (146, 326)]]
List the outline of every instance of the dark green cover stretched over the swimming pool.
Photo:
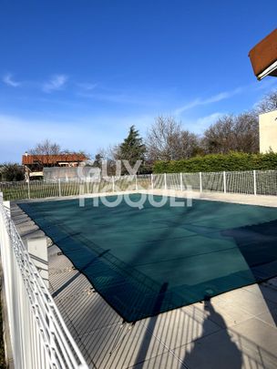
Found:
[(92, 199), (20, 207), (127, 322), (277, 275), (274, 208), (208, 200), (155, 208), (147, 200), (139, 210)]

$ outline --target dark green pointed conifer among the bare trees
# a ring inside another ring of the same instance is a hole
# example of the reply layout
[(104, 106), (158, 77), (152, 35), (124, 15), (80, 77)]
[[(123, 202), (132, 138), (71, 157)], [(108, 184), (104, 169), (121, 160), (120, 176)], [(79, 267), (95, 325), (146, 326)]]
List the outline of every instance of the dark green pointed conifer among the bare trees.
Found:
[[(128, 160), (131, 168), (140, 160), (145, 161), (146, 147), (139, 137), (139, 130), (135, 126), (131, 126), (128, 131), (128, 137), (119, 145), (115, 155), (118, 160)], [(141, 169), (140, 169), (141, 170)], [(139, 171), (140, 171), (139, 170)], [(123, 174), (128, 174), (128, 170), (122, 167)]]

